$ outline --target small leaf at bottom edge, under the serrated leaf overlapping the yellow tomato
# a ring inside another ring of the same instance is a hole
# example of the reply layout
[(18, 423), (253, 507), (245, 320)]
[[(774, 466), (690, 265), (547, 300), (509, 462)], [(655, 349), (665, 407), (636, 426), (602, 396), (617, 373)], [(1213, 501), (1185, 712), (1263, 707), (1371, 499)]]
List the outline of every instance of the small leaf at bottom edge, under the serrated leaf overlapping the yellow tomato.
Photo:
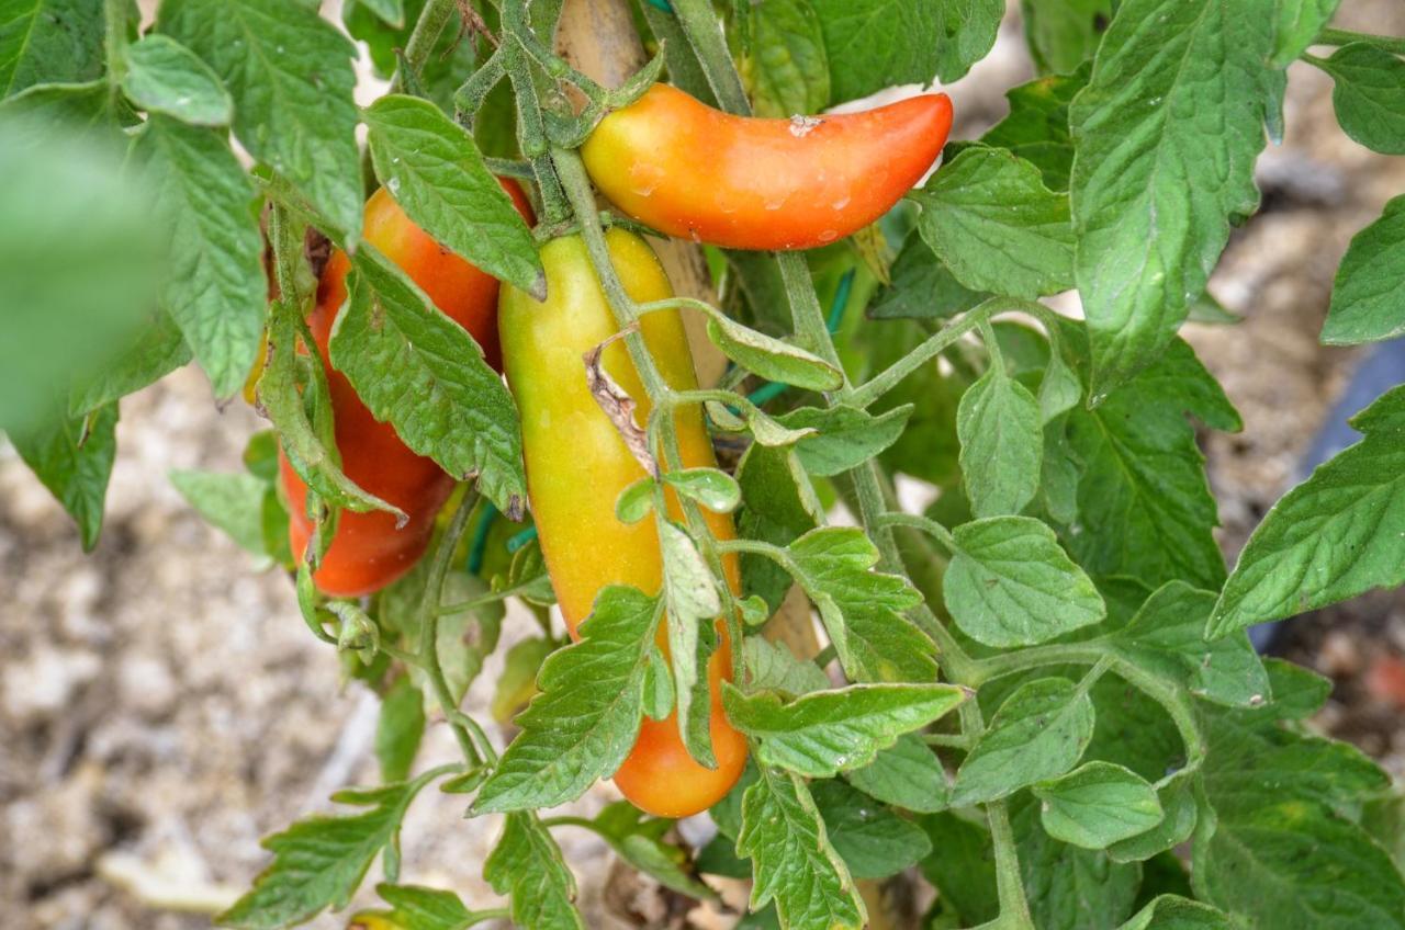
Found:
[(534, 815), (507, 815), (503, 836), (483, 863), (483, 878), (499, 895), (511, 898), (513, 923), (523, 930), (586, 926), (570, 903), (576, 899), (576, 879)]

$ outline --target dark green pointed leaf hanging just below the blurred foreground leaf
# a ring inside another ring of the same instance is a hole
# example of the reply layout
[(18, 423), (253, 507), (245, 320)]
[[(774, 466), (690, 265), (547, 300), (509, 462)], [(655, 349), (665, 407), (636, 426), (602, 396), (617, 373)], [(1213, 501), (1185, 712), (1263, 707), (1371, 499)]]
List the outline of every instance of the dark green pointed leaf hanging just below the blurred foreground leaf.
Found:
[(10, 431), (10, 441), (35, 478), (63, 504), (91, 552), (103, 530), (103, 502), (117, 458), (117, 405), (87, 416), (55, 410), (32, 430)]

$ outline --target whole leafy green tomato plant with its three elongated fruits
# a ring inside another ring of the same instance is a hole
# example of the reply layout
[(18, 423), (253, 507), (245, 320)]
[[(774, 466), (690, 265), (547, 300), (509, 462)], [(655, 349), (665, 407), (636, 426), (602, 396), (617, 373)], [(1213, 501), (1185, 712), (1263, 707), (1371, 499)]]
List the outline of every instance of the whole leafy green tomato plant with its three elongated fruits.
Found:
[[(1405, 583), (1405, 386), (1229, 570), (1241, 417), (1179, 334), (1288, 66), (1401, 153), (1405, 39), (1021, 0), (978, 135), (999, 0), (611, 0), (584, 46), (563, 0), (149, 6), (0, 15), (0, 424), (91, 548), (119, 400), (251, 382), (249, 473), (177, 487), (381, 698), (382, 784), (216, 923), (583, 927), (586, 829), (739, 927), (1405, 929), (1398, 790), (1246, 635)], [(1399, 204), (1324, 343), (1405, 333)], [(447, 888), (402, 875), (431, 787), (493, 837)]]

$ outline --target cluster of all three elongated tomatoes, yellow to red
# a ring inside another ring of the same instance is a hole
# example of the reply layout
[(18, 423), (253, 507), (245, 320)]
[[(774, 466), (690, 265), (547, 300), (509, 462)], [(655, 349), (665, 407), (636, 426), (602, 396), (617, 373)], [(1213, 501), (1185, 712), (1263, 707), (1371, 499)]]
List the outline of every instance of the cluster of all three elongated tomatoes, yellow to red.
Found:
[[(753, 119), (659, 84), (607, 115), (582, 156), (615, 207), (663, 233), (728, 249), (811, 249), (887, 212), (936, 162), (950, 126), (951, 103), (943, 94), (858, 114)], [(510, 181), (503, 185), (530, 219), (521, 190)], [(490, 364), (502, 364), (521, 413), (532, 516), (570, 634), (576, 635), (607, 584), (658, 591), (663, 566), (655, 523), (625, 524), (614, 510), (620, 492), (645, 476), (643, 468), (596, 403), (582, 365), (589, 350), (618, 333), (582, 237), (568, 235), (542, 246), (545, 301), (511, 287), (499, 296), (495, 278), (437, 244), (384, 190), (367, 204), (365, 239), (472, 333)], [(634, 301), (672, 296), (667, 275), (643, 239), (613, 228), (607, 246)], [(309, 317), (323, 362), (346, 299), (348, 268), (344, 254), (332, 257)], [(667, 384), (677, 391), (695, 388), (677, 312), (649, 313), (641, 329)], [(649, 400), (624, 344), (611, 343), (600, 364), (638, 402), (643, 421)], [(343, 469), (409, 516), (396, 528), (388, 513), (341, 514), (313, 579), (329, 594), (355, 596), (391, 583), (420, 558), (454, 480), (406, 448), (391, 424), (377, 421), (330, 365), (329, 376)], [(674, 416), (683, 465), (715, 466), (701, 409), (680, 407)], [(292, 511), (292, 548), (302, 554), (312, 531), (306, 487), (287, 459), (282, 482)], [(669, 510), (681, 517), (676, 499), (669, 499)], [(717, 538), (735, 535), (728, 514), (704, 513)], [(725, 570), (739, 590), (735, 559)], [(708, 662), (717, 768), (688, 754), (670, 715), (642, 721), (634, 750), (614, 775), (620, 790), (651, 813), (676, 818), (711, 806), (746, 764), (746, 740), (721, 704), (721, 681), (731, 679), (732, 669), (732, 643), (721, 618), (717, 631), (719, 648)], [(667, 652), (663, 628), (659, 646)]]

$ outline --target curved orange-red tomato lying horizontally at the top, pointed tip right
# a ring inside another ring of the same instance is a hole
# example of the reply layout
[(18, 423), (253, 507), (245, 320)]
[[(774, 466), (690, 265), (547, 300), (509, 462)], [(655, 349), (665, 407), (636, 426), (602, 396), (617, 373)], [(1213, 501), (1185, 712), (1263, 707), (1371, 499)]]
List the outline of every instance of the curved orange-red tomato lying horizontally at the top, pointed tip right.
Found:
[(655, 84), (580, 153), (610, 201), (670, 236), (725, 249), (813, 249), (882, 216), (932, 167), (951, 100), (757, 119)]

